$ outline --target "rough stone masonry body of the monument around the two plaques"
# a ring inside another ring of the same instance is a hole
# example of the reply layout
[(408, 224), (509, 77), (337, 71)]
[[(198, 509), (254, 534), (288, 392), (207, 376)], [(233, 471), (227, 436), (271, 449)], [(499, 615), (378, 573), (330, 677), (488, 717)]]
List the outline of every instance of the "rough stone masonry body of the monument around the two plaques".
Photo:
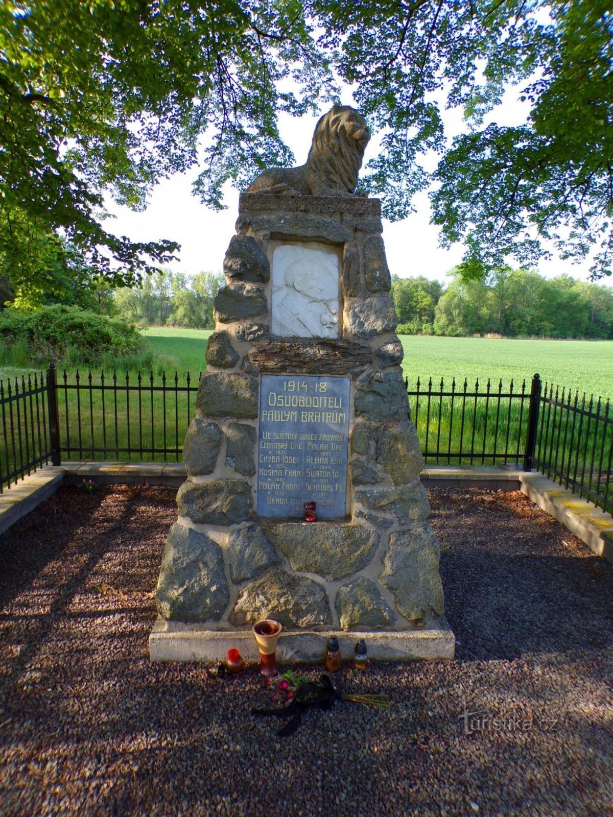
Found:
[[(184, 444), (157, 590), (163, 618), (212, 629), (421, 627), (443, 614), (439, 547), (419, 482), (376, 199), (242, 194), (216, 331)], [(338, 340), (270, 334), (271, 242), (341, 245)], [(257, 517), (260, 373), (351, 377), (347, 520)]]

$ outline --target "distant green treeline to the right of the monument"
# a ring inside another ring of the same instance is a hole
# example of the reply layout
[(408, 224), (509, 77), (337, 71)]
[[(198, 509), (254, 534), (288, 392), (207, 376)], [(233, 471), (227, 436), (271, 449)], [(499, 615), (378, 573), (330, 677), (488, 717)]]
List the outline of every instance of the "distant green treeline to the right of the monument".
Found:
[(392, 276), (400, 334), (613, 339), (613, 288), (532, 270), (496, 270), (485, 281), (450, 273), (445, 285)]

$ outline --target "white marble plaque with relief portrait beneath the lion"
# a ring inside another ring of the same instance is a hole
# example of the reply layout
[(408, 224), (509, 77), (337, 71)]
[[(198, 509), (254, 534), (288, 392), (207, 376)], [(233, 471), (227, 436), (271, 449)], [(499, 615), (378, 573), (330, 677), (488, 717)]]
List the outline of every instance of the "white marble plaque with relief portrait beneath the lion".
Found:
[(272, 257), (271, 331), (338, 337), (338, 255), (323, 244), (281, 244)]

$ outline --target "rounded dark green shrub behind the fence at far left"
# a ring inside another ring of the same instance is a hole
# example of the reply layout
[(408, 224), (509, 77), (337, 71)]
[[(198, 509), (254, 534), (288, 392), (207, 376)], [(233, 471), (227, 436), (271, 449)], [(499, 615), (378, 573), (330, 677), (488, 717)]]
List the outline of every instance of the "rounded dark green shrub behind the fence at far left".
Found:
[(20, 362), (94, 365), (113, 359), (124, 368), (127, 359), (150, 364), (150, 343), (123, 319), (107, 318), (76, 306), (44, 306), (35, 312), (5, 310), (0, 315), (0, 355), (7, 363), (19, 350)]

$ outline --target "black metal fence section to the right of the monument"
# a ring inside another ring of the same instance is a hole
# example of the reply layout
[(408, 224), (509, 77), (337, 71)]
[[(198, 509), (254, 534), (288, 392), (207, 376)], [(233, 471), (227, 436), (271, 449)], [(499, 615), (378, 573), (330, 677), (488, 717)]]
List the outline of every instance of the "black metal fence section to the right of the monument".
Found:
[(426, 464), (515, 463), (537, 469), (579, 497), (613, 513), (613, 417), (611, 401), (543, 384), (500, 380), (468, 386), (409, 390), (411, 417)]

